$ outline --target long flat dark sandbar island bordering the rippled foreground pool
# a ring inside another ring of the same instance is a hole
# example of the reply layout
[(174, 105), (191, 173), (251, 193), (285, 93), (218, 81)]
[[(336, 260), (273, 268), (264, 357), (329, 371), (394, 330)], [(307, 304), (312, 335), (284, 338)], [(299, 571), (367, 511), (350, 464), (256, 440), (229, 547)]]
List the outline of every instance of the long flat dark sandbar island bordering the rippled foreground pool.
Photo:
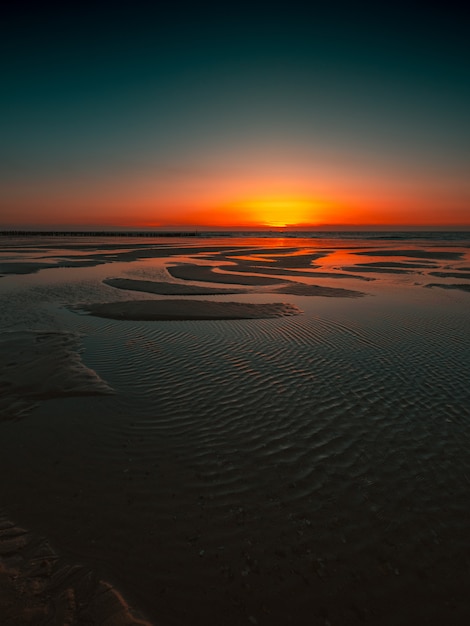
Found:
[(283, 302), (251, 304), (205, 300), (131, 300), (73, 308), (97, 317), (142, 321), (266, 319), (301, 313), (293, 304)]

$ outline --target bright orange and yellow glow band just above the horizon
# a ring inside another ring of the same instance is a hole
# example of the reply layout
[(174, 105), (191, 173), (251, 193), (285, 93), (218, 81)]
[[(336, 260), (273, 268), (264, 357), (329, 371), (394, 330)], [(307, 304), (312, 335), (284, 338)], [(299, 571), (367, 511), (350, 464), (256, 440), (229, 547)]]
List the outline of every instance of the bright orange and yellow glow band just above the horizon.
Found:
[(374, 179), (353, 182), (253, 177), (165, 186), (139, 178), (44, 189), (12, 187), (2, 206), (2, 222), (4, 228), (470, 227), (466, 194), (438, 194), (432, 186), (421, 193)]

